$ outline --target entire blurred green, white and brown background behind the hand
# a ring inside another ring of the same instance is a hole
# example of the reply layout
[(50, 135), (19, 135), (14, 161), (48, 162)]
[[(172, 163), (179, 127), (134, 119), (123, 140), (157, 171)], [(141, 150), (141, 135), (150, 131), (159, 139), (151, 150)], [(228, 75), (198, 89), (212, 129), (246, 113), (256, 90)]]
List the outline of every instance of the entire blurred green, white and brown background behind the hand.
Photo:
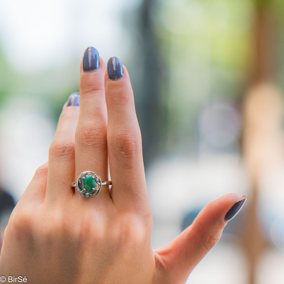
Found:
[(130, 73), (153, 247), (211, 199), (248, 194), (186, 283), (284, 283), (283, 13), (280, 0), (1, 0), (0, 240), (94, 46)]

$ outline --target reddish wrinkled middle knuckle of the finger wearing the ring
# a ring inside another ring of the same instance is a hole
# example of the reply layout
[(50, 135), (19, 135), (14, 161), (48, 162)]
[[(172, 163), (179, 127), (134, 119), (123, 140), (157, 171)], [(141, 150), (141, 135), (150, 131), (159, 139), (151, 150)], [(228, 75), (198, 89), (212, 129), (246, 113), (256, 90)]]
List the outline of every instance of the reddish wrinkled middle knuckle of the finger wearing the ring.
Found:
[(77, 141), (83, 147), (106, 145), (106, 126), (103, 124), (88, 124), (80, 128), (76, 133)]

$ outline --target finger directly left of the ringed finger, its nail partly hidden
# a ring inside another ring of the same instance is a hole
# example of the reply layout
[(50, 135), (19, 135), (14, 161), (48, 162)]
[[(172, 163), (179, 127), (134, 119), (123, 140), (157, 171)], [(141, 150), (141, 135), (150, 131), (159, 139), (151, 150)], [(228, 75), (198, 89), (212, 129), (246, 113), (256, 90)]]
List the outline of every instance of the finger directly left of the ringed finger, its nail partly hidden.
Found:
[(74, 133), (78, 114), (79, 93), (73, 93), (63, 107), (56, 133), (49, 147), (45, 195), (47, 202), (61, 202), (73, 196), (74, 191), (70, 185), (75, 175)]

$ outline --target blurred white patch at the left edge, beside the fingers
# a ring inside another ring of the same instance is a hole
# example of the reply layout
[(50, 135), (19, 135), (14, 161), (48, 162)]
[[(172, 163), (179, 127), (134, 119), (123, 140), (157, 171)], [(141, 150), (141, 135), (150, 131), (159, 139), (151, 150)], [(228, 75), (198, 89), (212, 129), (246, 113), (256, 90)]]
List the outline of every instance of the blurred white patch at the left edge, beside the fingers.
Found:
[(43, 104), (27, 99), (10, 101), (0, 114), (0, 125), (1, 185), (17, 201), (35, 170), (48, 160), (55, 126)]

